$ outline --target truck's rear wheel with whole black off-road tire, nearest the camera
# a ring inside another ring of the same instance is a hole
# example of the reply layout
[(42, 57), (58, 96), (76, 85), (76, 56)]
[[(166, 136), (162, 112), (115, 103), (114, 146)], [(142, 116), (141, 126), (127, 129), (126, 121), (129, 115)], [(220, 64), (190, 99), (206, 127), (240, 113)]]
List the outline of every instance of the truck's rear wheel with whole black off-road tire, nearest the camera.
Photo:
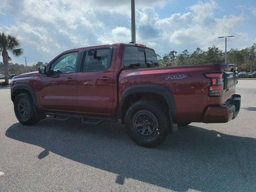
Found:
[(170, 130), (168, 109), (161, 102), (139, 100), (128, 108), (125, 125), (136, 144), (148, 148), (159, 146)]

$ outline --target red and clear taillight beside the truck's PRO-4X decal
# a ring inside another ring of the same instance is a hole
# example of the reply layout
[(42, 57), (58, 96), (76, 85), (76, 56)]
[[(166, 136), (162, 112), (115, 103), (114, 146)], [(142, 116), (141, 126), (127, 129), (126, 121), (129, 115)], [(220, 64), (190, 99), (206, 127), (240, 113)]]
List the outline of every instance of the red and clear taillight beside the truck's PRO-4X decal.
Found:
[(222, 96), (224, 88), (223, 73), (207, 73), (204, 75), (211, 80), (209, 96)]

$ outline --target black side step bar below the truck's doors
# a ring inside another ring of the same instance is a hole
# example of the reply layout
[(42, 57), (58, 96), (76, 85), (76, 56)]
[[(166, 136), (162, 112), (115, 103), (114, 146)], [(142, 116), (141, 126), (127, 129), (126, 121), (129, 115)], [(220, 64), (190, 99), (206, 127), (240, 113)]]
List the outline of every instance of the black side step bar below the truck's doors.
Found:
[(71, 118), (82, 118), (82, 123), (99, 125), (104, 122), (118, 122), (118, 119), (112, 118), (101, 118), (101, 117), (92, 117), (92, 116), (83, 116), (83, 115), (68, 115), (68, 114), (59, 114), (59, 113), (45, 113), (46, 115), (52, 116), (52, 119), (66, 121)]

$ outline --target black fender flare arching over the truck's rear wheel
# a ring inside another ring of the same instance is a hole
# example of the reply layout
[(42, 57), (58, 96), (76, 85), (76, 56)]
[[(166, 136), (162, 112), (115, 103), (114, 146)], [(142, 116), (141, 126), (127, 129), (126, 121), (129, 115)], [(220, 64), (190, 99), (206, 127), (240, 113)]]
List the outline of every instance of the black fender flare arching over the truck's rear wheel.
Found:
[(136, 93), (154, 93), (162, 96), (168, 104), (169, 112), (171, 112), (170, 117), (175, 123), (178, 122), (176, 104), (172, 92), (167, 87), (159, 84), (139, 84), (126, 88), (122, 94), (122, 98), (118, 106), (119, 115), (122, 113), (122, 107), (126, 98), (128, 98), (128, 96), (131, 94)]

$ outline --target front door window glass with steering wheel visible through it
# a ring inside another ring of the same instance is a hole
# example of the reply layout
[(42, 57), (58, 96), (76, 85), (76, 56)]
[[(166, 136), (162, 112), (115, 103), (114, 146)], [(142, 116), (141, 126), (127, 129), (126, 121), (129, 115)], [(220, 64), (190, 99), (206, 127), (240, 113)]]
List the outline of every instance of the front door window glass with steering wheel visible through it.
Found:
[(78, 52), (68, 53), (60, 56), (50, 66), (50, 75), (61, 73), (74, 73)]

